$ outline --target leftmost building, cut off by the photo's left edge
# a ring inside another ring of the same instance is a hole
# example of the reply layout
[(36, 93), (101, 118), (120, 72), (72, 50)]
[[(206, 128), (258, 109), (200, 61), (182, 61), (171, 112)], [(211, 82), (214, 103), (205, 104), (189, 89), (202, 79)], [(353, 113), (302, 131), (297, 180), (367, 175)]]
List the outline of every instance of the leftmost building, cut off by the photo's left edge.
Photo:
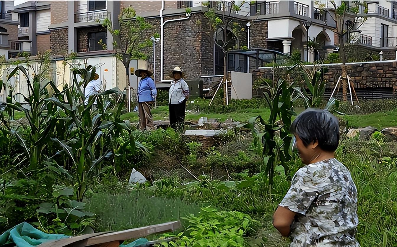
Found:
[(0, 55), (9, 58), (9, 53), (18, 50), (18, 15), (8, 13), (14, 1), (0, 1)]

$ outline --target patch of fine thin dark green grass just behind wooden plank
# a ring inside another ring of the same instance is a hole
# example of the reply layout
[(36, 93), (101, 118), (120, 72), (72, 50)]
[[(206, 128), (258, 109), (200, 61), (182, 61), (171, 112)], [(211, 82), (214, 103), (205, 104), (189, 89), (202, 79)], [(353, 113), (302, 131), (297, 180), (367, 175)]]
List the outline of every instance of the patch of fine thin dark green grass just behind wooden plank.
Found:
[(119, 194), (94, 194), (87, 202), (87, 210), (97, 216), (96, 231), (121, 231), (179, 220), (199, 207), (181, 199), (154, 197), (145, 191), (125, 191)]

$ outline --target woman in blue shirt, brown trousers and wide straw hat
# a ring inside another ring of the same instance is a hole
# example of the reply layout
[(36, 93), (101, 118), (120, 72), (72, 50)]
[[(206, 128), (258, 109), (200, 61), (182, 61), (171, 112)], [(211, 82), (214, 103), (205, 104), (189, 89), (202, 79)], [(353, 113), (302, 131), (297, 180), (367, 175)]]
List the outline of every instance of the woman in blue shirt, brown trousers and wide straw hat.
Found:
[(150, 108), (157, 96), (156, 84), (150, 76), (152, 72), (147, 70), (147, 66), (141, 66), (135, 70), (135, 75), (141, 77), (139, 81), (137, 96), (138, 96), (138, 114), (139, 114), (139, 129), (150, 130), (154, 129), (153, 116)]

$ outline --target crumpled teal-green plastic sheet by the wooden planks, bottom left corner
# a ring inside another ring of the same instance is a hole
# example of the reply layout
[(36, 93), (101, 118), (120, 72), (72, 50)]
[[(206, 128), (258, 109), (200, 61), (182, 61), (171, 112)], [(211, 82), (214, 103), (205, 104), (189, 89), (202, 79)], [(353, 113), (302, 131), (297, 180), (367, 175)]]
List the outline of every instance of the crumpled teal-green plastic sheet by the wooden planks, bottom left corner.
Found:
[[(14, 243), (17, 247), (32, 247), (61, 238), (69, 238), (69, 236), (47, 234), (37, 230), (29, 223), (23, 222), (0, 235), (0, 246)], [(147, 241), (145, 238), (140, 238), (127, 245), (120, 245), (120, 247), (139, 247), (145, 245)]]

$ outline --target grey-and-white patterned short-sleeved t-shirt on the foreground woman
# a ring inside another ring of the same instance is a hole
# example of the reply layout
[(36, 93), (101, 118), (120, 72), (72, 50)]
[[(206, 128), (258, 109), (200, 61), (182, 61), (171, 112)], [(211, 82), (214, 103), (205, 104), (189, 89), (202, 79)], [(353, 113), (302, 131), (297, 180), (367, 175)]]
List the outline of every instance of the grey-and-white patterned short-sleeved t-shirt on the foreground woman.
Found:
[(291, 247), (357, 247), (357, 189), (349, 170), (336, 159), (305, 165), (279, 204), (297, 215)]

